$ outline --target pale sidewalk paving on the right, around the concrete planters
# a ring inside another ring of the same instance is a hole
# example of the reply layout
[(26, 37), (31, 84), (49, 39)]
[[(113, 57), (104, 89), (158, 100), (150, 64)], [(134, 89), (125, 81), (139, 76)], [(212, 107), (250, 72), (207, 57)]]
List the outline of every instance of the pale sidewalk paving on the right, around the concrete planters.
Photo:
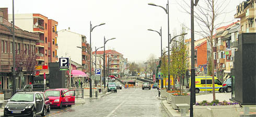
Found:
[[(218, 99), (219, 101), (229, 101), (229, 99), (231, 98), (231, 93), (215, 93), (216, 94), (216, 99)], [(158, 96), (157, 96), (158, 98)], [(171, 104), (167, 103), (166, 98), (158, 98), (161, 99), (162, 101), (161, 106), (166, 110), (166, 112), (168, 113), (169, 116), (181, 116), (181, 112), (178, 112), (178, 110), (175, 110), (171, 107)], [(197, 95), (196, 96), (196, 102), (200, 102), (203, 100), (207, 100), (207, 101), (212, 101), (213, 97), (212, 97), (212, 93), (208, 93), (207, 95)], [(249, 107), (249, 114), (247, 115), (243, 115), (244, 114), (244, 108), (245, 107)], [(190, 111), (189, 113), (186, 114), (186, 116), (190, 115)], [(241, 109), (241, 113), (240, 116), (256, 116), (256, 105), (242, 105), (242, 109)]]

